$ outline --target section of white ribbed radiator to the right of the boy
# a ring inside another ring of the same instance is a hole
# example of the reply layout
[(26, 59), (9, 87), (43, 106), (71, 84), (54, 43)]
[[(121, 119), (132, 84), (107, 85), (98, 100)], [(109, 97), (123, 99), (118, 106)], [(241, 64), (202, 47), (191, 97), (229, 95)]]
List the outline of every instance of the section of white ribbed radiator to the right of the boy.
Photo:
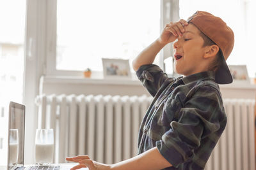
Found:
[(206, 170), (255, 170), (255, 101), (224, 99), (227, 127), (210, 159)]

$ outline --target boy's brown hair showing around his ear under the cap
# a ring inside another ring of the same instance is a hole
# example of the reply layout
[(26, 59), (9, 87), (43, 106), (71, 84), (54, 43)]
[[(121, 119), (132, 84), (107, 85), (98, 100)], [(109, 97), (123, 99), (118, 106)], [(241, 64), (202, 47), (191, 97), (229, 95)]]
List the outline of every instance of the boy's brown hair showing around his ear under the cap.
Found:
[[(204, 39), (204, 46), (211, 46), (211, 45), (216, 45), (216, 43), (214, 43), (214, 41), (212, 41), (208, 36), (205, 36), (205, 34), (199, 30), (199, 35)], [(215, 59), (213, 60), (213, 62), (210, 64), (209, 66), (209, 70), (212, 71), (216, 71), (218, 69), (218, 67), (221, 64), (221, 50), (219, 48), (218, 53), (216, 54)]]

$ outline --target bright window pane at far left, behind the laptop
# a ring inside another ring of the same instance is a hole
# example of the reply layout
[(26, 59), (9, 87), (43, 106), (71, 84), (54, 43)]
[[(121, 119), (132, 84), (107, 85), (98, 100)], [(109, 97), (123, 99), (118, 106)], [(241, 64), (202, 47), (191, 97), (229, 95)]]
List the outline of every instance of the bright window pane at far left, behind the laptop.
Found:
[(7, 160), (8, 103), (22, 103), (26, 0), (0, 1), (0, 165)]

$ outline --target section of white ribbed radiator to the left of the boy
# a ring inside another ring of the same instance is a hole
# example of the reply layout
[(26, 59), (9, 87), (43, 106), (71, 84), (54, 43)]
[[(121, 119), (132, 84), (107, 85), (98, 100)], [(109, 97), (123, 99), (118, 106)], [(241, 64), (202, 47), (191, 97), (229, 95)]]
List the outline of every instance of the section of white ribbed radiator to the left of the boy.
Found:
[(38, 96), (38, 128), (54, 129), (56, 163), (88, 154), (113, 164), (137, 154), (140, 122), (152, 97)]

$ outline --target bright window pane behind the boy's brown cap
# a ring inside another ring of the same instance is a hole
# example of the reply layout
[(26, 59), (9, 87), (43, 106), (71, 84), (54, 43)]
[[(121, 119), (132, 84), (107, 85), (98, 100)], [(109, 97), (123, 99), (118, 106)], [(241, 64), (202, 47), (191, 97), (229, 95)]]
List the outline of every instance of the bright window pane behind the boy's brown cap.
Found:
[(221, 17), (235, 34), (235, 45), (227, 64), (246, 65), (249, 76), (256, 73), (256, 57), (253, 56), (255, 34), (251, 34), (255, 28), (254, 10), (255, 1), (244, 0), (180, 0), (180, 18), (187, 19), (195, 11), (208, 11), (213, 15)]

